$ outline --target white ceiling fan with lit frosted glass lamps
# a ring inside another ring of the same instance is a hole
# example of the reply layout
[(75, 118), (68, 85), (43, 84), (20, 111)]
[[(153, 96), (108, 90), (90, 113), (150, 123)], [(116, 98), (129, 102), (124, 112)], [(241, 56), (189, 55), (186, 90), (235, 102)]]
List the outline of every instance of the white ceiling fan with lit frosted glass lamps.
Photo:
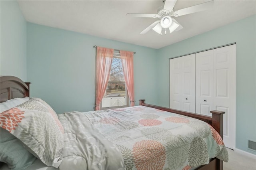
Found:
[[(174, 19), (172, 16), (178, 17), (186, 14), (192, 14), (195, 12), (200, 12), (211, 8), (214, 4), (214, 1), (204, 2), (202, 4), (198, 4), (195, 6), (190, 6), (188, 8), (183, 8), (181, 10), (174, 11), (174, 5), (177, 0), (165, 0), (164, 8), (159, 10), (157, 14), (137, 14), (137, 13), (128, 13), (126, 16), (132, 17), (144, 17), (144, 18), (159, 18), (153, 22), (150, 26), (148, 26), (145, 30), (143, 30), (140, 34), (145, 34), (149, 30), (154, 30), (158, 34), (164, 33), (166, 34), (166, 29), (168, 28), (170, 33), (174, 30), (179, 31), (183, 27)], [(164, 29), (163, 29), (164, 28)]]

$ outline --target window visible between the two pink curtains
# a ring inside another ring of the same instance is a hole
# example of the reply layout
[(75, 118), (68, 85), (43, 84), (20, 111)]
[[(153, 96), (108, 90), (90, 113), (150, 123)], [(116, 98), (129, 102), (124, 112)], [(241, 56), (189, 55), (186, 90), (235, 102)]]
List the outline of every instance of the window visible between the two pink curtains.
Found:
[(102, 99), (101, 108), (128, 107), (129, 97), (126, 91), (124, 71), (119, 51), (114, 51), (108, 86)]

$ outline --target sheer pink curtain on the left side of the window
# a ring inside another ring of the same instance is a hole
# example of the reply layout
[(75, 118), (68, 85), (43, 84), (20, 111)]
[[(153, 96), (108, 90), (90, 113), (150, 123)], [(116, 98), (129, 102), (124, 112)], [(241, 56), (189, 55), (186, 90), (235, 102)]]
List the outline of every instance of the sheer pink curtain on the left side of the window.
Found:
[(96, 59), (96, 103), (95, 110), (100, 110), (100, 102), (104, 96), (110, 76), (114, 49), (97, 47)]

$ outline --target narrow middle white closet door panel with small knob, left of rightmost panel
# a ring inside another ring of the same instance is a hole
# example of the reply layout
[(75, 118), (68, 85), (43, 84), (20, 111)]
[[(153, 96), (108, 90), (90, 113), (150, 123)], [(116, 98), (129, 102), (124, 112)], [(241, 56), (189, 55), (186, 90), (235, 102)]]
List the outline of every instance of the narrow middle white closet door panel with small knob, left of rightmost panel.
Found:
[(213, 50), (196, 53), (196, 113), (212, 116)]

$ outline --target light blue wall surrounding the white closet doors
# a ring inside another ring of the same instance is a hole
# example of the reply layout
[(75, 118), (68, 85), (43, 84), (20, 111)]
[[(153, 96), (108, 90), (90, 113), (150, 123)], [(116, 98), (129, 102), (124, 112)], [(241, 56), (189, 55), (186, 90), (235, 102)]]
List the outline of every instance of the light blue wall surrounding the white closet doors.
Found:
[(236, 42), (236, 148), (256, 140), (256, 16), (228, 24), (157, 51), (158, 105), (169, 107), (169, 58)]

